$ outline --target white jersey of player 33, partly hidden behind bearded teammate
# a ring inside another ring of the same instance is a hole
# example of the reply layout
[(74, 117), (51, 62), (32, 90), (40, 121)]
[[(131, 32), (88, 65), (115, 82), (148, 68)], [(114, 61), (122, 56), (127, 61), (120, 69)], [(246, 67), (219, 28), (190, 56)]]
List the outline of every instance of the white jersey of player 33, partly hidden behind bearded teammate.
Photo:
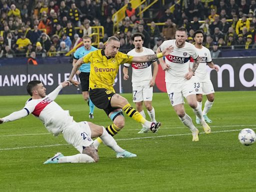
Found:
[[(194, 74), (203, 82), (204, 80), (209, 79), (206, 63), (211, 62), (210, 51), (205, 46), (202, 46), (202, 48), (196, 48), (196, 50), (198, 52), (200, 64), (198, 65)], [(191, 59), (190, 68), (192, 67), (192, 65), (193, 65), (193, 59)]]

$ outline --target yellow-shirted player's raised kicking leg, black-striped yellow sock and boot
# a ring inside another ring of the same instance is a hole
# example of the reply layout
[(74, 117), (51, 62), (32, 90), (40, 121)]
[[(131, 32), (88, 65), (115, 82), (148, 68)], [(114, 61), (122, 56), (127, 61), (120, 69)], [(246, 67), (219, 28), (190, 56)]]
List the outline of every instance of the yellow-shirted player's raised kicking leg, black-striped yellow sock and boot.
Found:
[(127, 99), (122, 97), (119, 94), (114, 94), (110, 100), (112, 107), (120, 107), (122, 110), (132, 119), (136, 120), (139, 123), (142, 123), (144, 126), (149, 128), (152, 132), (156, 132), (160, 123), (154, 123), (146, 120), (138, 111), (136, 111), (130, 103), (128, 103)]

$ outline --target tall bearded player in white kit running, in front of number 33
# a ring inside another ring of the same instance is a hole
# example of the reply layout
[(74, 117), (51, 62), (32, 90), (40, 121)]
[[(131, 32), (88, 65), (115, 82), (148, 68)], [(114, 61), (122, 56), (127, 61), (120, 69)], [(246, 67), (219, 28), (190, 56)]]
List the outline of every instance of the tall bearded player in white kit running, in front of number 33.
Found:
[[(210, 133), (210, 127), (204, 121), (201, 108), (197, 105), (191, 81), (191, 77), (199, 64), (198, 53), (191, 43), (185, 41), (186, 39), (186, 29), (184, 27), (177, 28), (175, 39), (163, 41), (156, 52), (160, 52), (169, 45), (174, 47), (173, 51), (165, 56), (165, 62), (163, 59), (159, 59), (162, 69), (165, 70), (167, 94), (179, 119), (192, 131), (192, 141), (198, 141), (199, 130), (193, 125), (190, 116), (185, 113), (183, 97), (186, 98), (187, 103), (198, 116), (206, 134)], [(191, 71), (189, 71), (190, 56), (194, 59)]]

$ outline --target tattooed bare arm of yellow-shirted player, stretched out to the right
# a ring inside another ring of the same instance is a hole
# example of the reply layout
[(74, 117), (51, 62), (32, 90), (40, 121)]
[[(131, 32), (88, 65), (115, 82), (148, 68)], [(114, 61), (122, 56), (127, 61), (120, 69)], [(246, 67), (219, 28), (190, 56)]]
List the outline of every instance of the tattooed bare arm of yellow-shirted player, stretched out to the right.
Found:
[(156, 58), (163, 57), (165, 55), (168, 55), (173, 51), (173, 46), (170, 45), (166, 48), (163, 49), (162, 52), (156, 53), (156, 54), (148, 54), (148, 55), (143, 55), (143, 56), (134, 56), (131, 60), (131, 62), (147, 62), (147, 61), (152, 61)]

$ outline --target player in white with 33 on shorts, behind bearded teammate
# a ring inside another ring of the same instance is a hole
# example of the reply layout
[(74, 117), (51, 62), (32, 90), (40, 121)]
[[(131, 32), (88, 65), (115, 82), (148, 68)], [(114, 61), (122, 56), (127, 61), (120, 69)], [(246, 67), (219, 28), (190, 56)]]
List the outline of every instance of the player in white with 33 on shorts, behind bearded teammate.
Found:
[[(213, 64), (209, 49), (202, 45), (203, 32), (201, 30), (196, 30), (193, 36), (195, 41), (194, 46), (198, 52), (200, 61), (200, 64), (192, 77), (193, 85), (196, 93), (197, 104), (200, 107), (202, 107), (202, 94), (206, 94), (207, 100), (204, 103), (202, 116), (206, 122), (211, 123), (212, 121), (208, 118), (207, 112), (210, 110), (213, 104), (214, 88), (207, 73), (206, 64), (216, 71), (218, 71), (218, 66)], [(192, 62), (190, 62), (190, 67), (192, 67)], [(197, 116), (195, 117), (195, 121), (197, 124), (200, 123)]]

